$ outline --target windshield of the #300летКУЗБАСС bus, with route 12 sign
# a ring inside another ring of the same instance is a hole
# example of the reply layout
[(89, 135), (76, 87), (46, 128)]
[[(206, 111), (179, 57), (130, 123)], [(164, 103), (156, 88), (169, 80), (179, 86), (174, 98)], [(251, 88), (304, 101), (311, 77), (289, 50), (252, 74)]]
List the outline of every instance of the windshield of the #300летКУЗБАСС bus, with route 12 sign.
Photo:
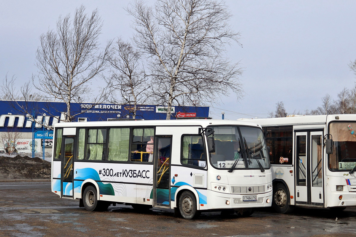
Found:
[(210, 162), (216, 168), (269, 168), (269, 158), (262, 130), (247, 126), (213, 126), (215, 152)]

